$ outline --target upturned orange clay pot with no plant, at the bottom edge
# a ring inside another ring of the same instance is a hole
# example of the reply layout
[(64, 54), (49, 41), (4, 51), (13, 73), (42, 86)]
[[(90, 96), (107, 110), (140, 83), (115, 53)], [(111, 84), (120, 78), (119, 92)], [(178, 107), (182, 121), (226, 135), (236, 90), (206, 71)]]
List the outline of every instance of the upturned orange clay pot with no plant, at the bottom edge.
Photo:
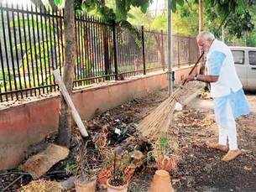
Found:
[(157, 170), (151, 182), (150, 192), (173, 192), (170, 183), (170, 174), (165, 170)]

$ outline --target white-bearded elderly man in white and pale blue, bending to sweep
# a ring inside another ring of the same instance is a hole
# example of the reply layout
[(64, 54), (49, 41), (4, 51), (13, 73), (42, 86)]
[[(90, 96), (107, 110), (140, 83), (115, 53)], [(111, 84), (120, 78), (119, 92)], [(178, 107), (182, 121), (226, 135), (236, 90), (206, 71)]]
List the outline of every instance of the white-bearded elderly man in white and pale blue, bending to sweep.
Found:
[(238, 79), (231, 50), (209, 32), (198, 34), (199, 49), (206, 54), (206, 75), (189, 75), (186, 81), (209, 82), (214, 101), (214, 113), (219, 127), (218, 143), (209, 148), (227, 152), (222, 161), (230, 161), (241, 154), (237, 142), (235, 119), (248, 115), (250, 107)]

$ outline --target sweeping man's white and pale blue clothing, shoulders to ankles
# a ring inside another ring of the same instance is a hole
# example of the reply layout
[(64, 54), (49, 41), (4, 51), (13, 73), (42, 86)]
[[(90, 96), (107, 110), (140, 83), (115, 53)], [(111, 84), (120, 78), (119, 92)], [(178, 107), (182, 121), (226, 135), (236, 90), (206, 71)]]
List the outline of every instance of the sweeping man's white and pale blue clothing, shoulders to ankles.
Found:
[(219, 127), (219, 143), (235, 150), (238, 148), (235, 118), (250, 112), (243, 86), (235, 70), (231, 50), (226, 44), (214, 40), (206, 55), (208, 75), (217, 75), (217, 82), (211, 83), (214, 98), (214, 112)]

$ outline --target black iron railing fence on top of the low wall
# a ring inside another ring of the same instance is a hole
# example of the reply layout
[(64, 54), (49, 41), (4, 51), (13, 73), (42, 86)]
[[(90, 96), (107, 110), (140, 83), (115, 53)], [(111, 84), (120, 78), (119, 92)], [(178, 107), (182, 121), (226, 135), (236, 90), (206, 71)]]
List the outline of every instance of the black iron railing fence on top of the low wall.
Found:
[[(0, 4), (0, 101), (57, 90), (52, 69), (63, 72), (63, 11)], [(122, 80), (165, 69), (167, 35), (139, 28), (133, 33), (101, 18), (76, 16), (74, 86)], [(194, 38), (173, 36), (176, 66), (195, 62)]]

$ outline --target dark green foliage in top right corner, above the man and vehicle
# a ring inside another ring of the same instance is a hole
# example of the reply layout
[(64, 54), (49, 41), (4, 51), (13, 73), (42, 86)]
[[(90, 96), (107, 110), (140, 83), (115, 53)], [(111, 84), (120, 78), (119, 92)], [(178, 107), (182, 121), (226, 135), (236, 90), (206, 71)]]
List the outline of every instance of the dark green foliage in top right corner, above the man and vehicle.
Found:
[(255, 1), (252, 0), (206, 0), (205, 13), (209, 29), (219, 37), (221, 32), (218, 26), (224, 21), (228, 33), (241, 38), (244, 33), (254, 29), (253, 13), (249, 11), (253, 4)]

